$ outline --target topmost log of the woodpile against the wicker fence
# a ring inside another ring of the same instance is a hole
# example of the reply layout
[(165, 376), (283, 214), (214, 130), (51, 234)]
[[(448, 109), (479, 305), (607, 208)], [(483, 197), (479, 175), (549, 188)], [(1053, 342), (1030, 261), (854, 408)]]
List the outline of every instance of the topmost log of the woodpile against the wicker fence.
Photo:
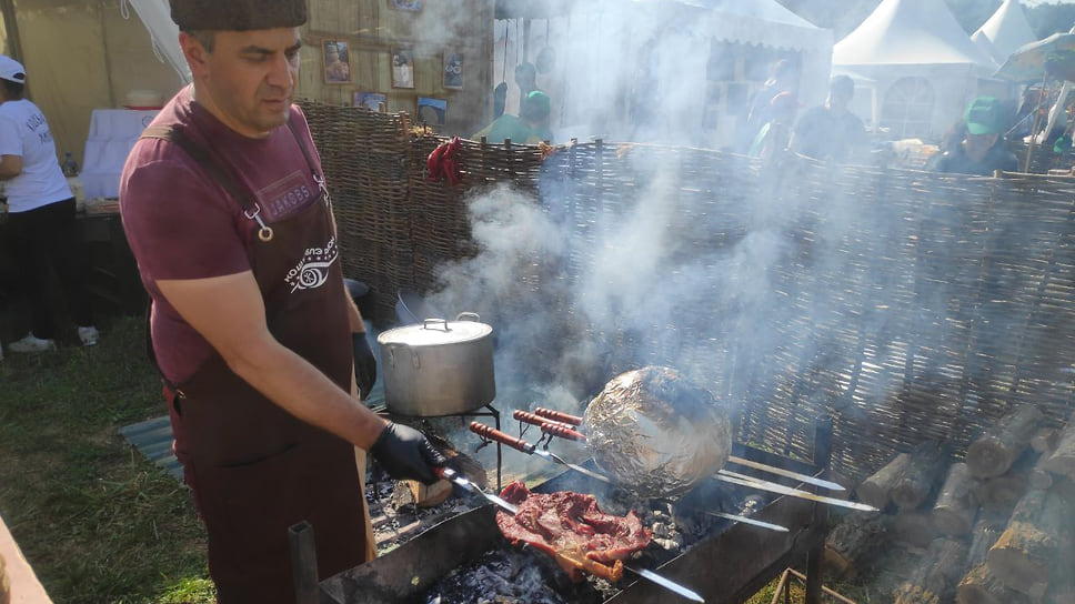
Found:
[(1001, 417), (967, 447), (966, 462), (971, 475), (978, 479), (999, 476), (1029, 445), (1045, 419), (1036, 405), (1023, 404)]

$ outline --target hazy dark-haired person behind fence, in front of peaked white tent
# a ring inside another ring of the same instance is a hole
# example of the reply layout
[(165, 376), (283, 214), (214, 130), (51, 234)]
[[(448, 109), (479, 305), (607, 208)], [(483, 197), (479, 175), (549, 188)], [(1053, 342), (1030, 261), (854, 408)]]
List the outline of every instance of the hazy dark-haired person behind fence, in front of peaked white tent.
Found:
[(855, 97), (855, 82), (836, 76), (828, 85), (825, 104), (806, 111), (792, 133), (791, 150), (817, 160), (845, 161), (868, 142), (866, 128), (847, 110)]

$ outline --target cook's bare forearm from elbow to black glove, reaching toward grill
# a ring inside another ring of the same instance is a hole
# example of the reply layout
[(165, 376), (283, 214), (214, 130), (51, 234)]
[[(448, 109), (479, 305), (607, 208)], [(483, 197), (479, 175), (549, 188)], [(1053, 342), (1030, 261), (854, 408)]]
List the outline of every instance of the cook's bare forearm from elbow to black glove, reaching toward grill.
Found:
[(317, 368), (275, 344), (234, 360), (232, 371), (295, 417), (369, 450), (388, 422)]

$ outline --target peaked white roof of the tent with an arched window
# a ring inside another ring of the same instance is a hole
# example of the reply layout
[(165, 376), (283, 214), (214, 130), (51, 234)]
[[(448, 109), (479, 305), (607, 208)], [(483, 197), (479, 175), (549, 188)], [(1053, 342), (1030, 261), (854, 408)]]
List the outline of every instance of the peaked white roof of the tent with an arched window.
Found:
[(884, 0), (833, 48), (833, 64), (974, 64), (996, 69), (940, 0)]

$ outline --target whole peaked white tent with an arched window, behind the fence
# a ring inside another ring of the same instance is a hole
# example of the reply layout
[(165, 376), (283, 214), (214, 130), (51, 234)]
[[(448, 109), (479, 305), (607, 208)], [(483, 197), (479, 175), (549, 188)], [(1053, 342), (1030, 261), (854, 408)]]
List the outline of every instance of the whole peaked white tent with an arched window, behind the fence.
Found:
[[(943, 2), (884, 0), (833, 48), (833, 67), (876, 83), (854, 110), (893, 138), (935, 139), (996, 70)], [(864, 101), (874, 99), (873, 107)]]

